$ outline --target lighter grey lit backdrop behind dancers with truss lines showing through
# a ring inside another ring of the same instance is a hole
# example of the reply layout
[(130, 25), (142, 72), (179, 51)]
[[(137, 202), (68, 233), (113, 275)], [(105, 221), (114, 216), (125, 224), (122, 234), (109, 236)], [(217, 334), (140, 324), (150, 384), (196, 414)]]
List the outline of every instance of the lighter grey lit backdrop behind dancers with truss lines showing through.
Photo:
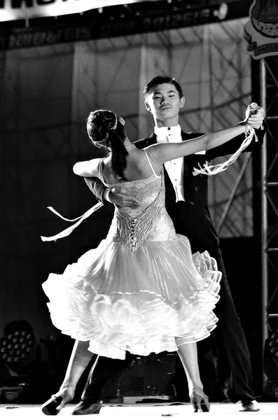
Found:
[[(72, 97), (76, 135), (82, 132), (88, 109), (106, 107), (125, 117), (131, 139), (148, 136), (153, 119), (142, 92), (158, 74), (174, 76), (183, 87), (183, 130), (220, 130), (242, 120), (251, 102), (251, 60), (242, 36), (245, 22), (76, 43)], [(87, 139), (82, 141), (85, 148)], [(243, 153), (228, 171), (209, 180), (211, 217), (220, 237), (253, 235), (251, 171), (251, 154)]]

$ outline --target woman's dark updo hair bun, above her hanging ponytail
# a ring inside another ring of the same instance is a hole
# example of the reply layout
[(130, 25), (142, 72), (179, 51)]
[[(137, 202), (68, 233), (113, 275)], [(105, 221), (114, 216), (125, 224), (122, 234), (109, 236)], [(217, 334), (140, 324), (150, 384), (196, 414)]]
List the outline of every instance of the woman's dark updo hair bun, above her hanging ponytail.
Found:
[(111, 130), (116, 130), (118, 117), (112, 111), (98, 109), (90, 113), (87, 119), (87, 132), (96, 147), (107, 148)]

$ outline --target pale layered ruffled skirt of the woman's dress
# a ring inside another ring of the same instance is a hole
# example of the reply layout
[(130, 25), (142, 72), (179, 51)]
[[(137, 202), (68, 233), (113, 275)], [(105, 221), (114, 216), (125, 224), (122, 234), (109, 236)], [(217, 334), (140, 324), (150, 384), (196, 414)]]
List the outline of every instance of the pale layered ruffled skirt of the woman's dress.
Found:
[(55, 327), (109, 358), (176, 351), (216, 327), (221, 272), (209, 253), (191, 254), (186, 237), (145, 242), (132, 253), (121, 239), (50, 274), (43, 290)]

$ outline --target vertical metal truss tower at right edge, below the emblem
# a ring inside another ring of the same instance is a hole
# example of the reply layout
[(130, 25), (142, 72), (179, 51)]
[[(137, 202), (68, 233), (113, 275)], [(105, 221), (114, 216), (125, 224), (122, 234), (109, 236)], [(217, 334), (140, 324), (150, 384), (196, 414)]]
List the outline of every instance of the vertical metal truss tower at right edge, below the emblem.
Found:
[(278, 328), (278, 57), (260, 59), (267, 133), (261, 161), (263, 344)]

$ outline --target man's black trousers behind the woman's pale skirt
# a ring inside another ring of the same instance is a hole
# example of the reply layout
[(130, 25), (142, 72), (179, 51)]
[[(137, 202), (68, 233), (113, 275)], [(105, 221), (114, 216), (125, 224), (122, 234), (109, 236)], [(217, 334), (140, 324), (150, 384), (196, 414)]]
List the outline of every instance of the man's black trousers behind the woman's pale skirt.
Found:
[[(220, 300), (214, 309), (219, 321), (209, 337), (215, 344), (216, 375), (221, 389), (232, 402), (253, 400), (255, 397), (251, 390), (249, 349), (232, 300), (218, 237), (211, 223), (209, 211), (205, 207), (195, 207), (184, 202), (179, 202), (167, 210), (176, 232), (188, 237), (192, 252), (207, 250), (216, 259), (218, 269), (222, 272)], [(202, 347), (203, 343), (198, 343), (200, 358), (202, 358)], [(106, 382), (123, 371), (132, 358), (134, 355), (128, 352), (125, 360), (99, 357), (95, 370), (90, 371), (82, 399), (92, 401), (101, 399)]]

